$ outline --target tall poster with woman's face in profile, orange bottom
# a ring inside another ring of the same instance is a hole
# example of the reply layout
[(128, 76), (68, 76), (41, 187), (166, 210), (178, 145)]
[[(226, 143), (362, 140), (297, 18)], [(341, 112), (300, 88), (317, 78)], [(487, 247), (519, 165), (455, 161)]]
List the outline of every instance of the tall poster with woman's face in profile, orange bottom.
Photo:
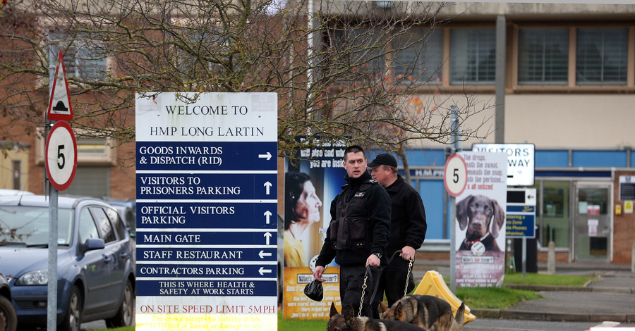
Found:
[(315, 260), (322, 250), (331, 222), (331, 201), (346, 184), (346, 146), (303, 150), (308, 158), (286, 165), (284, 173), (284, 318), (329, 319), (330, 303), (339, 305), (339, 267), (330, 263), (322, 277), (324, 299), (312, 301), (304, 287), (313, 281)]

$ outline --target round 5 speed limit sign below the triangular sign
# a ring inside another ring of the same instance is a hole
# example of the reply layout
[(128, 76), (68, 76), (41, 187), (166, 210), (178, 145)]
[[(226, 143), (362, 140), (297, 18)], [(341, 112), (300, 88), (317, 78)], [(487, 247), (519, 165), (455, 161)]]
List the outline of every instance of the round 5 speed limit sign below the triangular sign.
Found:
[(68, 189), (77, 168), (77, 143), (71, 125), (56, 122), (47, 138), (45, 163), (51, 185), (58, 191)]

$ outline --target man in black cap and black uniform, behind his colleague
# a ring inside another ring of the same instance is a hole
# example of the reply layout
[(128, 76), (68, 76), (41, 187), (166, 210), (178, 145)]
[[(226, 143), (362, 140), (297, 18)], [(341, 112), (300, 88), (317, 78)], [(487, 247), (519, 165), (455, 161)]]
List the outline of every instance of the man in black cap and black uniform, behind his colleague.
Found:
[[(372, 303), (373, 317), (380, 318), (377, 306), (386, 292), (388, 306), (392, 306), (404, 296), (404, 292), (414, 289), (410, 260), (414, 260), (417, 249), (423, 244), (428, 223), (425, 221), (425, 208), (419, 193), (397, 174), (397, 159), (390, 154), (379, 154), (373, 162), (368, 163), (371, 174), (390, 196), (392, 216), (390, 218), (390, 237), (386, 254), (391, 257), (395, 251), (401, 250), (382, 272), (377, 294)], [(408, 280), (406, 287), (406, 280)]]

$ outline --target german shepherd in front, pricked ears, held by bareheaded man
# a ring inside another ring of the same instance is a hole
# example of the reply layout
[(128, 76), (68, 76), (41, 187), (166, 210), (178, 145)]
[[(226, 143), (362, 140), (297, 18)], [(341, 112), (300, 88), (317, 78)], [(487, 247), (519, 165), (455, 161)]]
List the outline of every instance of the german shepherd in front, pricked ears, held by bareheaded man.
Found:
[(368, 317), (353, 316), (353, 306), (349, 305), (341, 315), (331, 303), (331, 313), (327, 331), (425, 331), (421, 327), (399, 320), (374, 320)]

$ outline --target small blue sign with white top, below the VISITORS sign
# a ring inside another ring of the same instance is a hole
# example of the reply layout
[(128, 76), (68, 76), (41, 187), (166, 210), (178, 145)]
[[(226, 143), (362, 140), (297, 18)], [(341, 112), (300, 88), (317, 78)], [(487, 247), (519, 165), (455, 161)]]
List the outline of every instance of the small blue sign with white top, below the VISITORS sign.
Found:
[(507, 189), (505, 237), (536, 238), (536, 189)]

